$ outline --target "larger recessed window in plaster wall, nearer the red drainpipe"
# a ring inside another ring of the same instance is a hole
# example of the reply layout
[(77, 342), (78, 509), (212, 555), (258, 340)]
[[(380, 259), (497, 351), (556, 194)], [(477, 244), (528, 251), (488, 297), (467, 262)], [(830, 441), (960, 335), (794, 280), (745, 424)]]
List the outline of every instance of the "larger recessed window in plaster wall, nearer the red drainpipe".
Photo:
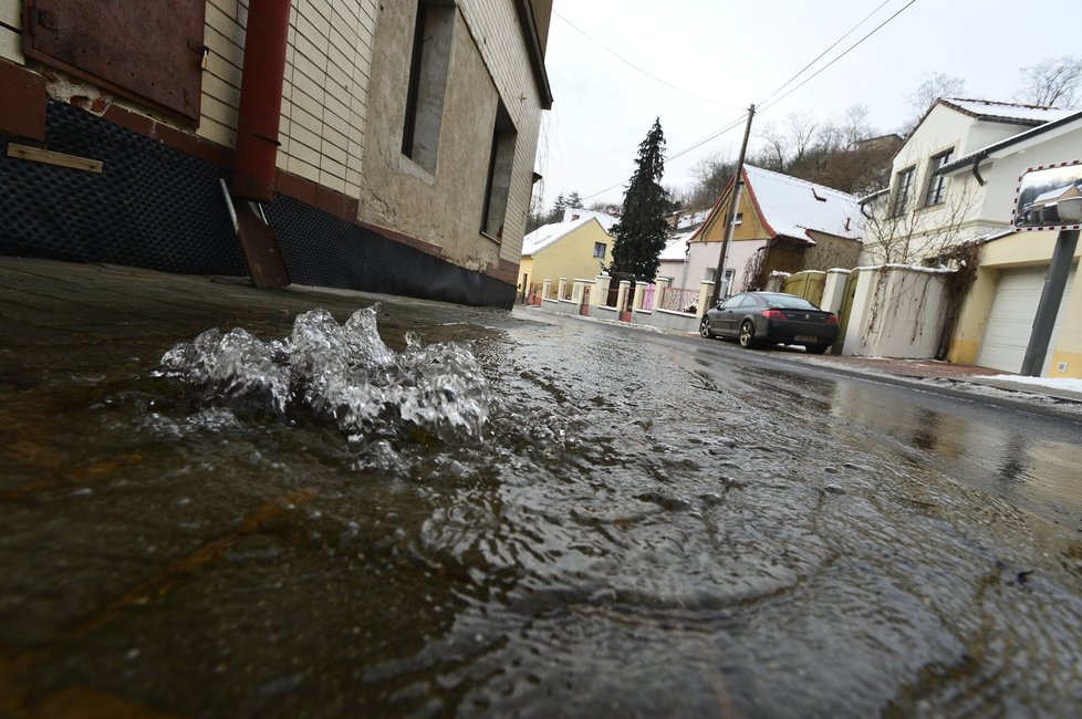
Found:
[(406, 90), (406, 118), (402, 128), (402, 154), (430, 173), (436, 171), (454, 29), (454, 2), (418, 0)]

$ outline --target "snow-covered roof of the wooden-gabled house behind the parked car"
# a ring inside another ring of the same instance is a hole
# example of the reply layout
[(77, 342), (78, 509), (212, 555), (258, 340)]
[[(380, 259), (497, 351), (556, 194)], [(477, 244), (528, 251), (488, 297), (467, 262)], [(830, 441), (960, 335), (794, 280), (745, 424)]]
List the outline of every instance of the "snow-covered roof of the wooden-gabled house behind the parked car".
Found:
[(808, 230), (861, 239), (864, 217), (857, 198), (847, 192), (743, 166), (763, 219), (778, 235), (811, 240)]

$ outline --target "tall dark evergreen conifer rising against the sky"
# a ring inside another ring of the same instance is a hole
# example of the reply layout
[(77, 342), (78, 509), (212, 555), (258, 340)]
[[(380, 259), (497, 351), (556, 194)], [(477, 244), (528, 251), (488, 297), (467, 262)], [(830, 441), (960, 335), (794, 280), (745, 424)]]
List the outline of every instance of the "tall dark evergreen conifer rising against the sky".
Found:
[(662, 187), (665, 174), (665, 135), (660, 118), (638, 146), (635, 171), (624, 192), (624, 209), (620, 222), (613, 226), (612, 274), (628, 274), (653, 280), (657, 273), (658, 256), (665, 249), (668, 222), (665, 216), (673, 208), (668, 191)]

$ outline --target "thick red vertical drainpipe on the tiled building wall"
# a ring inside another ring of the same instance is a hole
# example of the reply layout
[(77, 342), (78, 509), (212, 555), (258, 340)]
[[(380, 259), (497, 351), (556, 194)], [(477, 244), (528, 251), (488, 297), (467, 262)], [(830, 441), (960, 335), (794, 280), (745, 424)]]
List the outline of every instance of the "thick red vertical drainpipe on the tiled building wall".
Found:
[(240, 83), (232, 194), (274, 199), (278, 126), (282, 114), (290, 0), (250, 0)]

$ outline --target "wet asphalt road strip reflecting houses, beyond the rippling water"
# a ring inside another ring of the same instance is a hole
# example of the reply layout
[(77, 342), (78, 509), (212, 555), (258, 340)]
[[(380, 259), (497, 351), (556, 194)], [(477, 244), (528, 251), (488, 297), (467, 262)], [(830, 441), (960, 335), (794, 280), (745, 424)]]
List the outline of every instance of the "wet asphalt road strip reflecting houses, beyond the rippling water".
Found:
[[(534, 313), (526, 312), (533, 317)], [(802, 351), (740, 348), (704, 340), (547, 315), (547, 322), (586, 325), (604, 337), (634, 342), (693, 373), (708, 376), (741, 409), (780, 413), (815, 427), (824, 441), (875, 442), (902, 462), (932, 467), (1027, 512), (1082, 532), (1082, 420), (1002, 406), (977, 394), (943, 392), (874, 376), (832, 372), (799, 359)], [(726, 399), (720, 399), (725, 406)], [(832, 425), (831, 429), (824, 427)], [(829, 451), (829, 446), (826, 447)]]

